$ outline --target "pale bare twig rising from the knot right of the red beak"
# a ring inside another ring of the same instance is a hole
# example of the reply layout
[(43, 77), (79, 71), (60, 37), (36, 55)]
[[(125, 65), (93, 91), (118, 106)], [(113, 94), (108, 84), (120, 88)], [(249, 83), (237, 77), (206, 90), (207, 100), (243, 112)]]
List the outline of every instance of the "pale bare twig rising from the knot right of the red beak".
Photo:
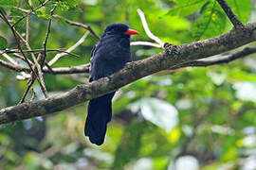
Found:
[(158, 37), (156, 37), (149, 29), (149, 26), (147, 24), (147, 21), (146, 21), (146, 18), (145, 18), (145, 15), (143, 13), (143, 11), (139, 8), (137, 8), (137, 13), (140, 17), (140, 20), (141, 20), (141, 23), (142, 23), (142, 26), (144, 27), (144, 30), (146, 32), (146, 34), (148, 35), (149, 38), (151, 38), (152, 40), (154, 40), (155, 42), (157, 42), (158, 44), (161, 45), (161, 47), (163, 47), (164, 45), (164, 42), (162, 42)]

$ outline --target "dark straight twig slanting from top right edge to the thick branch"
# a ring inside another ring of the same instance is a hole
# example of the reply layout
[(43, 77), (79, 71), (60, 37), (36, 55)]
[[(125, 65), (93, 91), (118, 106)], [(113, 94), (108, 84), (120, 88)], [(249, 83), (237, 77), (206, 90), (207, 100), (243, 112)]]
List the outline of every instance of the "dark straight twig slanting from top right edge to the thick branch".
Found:
[(227, 2), (225, 0), (216, 0), (216, 1), (219, 3), (221, 8), (223, 8), (223, 10), (226, 12), (226, 14), (229, 17), (230, 22), (233, 24), (233, 26), (235, 28), (244, 26), (243, 23), (234, 14), (234, 12), (232, 11), (232, 9), (229, 7), (229, 5), (227, 4)]

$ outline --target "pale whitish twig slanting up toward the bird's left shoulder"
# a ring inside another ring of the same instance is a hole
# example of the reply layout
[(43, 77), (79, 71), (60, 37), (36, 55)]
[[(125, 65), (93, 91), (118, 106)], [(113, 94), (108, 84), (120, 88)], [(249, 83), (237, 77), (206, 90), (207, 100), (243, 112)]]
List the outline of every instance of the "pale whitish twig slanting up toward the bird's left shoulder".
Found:
[(84, 40), (86, 39), (86, 37), (89, 35), (89, 31), (86, 31), (82, 38), (76, 42), (74, 45), (72, 45), (71, 47), (69, 47), (64, 53), (59, 53), (57, 54), (53, 59), (51, 59), (48, 64), (51, 66), (53, 65), (58, 59), (61, 59), (62, 57), (64, 57), (66, 54), (70, 53), (71, 51), (73, 51), (75, 48), (77, 48), (79, 45), (82, 44), (82, 42), (84, 42)]

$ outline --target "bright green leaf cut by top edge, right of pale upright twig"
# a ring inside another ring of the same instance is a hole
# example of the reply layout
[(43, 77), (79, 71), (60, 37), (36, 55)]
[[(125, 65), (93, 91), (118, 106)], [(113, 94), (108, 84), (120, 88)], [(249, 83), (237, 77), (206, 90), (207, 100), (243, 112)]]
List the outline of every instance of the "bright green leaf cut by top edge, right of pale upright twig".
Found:
[(209, 0), (182, 0), (177, 2), (177, 6), (172, 8), (167, 15), (179, 15), (179, 16), (187, 16), (201, 8), (204, 4), (206, 4)]

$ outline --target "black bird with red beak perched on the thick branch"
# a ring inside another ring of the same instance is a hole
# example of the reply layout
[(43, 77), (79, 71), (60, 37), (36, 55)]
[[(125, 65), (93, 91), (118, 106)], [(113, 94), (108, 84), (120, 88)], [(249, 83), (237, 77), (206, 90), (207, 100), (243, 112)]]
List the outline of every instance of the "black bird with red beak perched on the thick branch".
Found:
[[(91, 52), (90, 82), (118, 72), (126, 62), (131, 61), (130, 36), (133, 34), (139, 33), (122, 23), (106, 26), (101, 40)], [(107, 123), (112, 117), (111, 100), (115, 93), (107, 93), (89, 101), (84, 134), (89, 136), (93, 144), (101, 145), (104, 142)]]

